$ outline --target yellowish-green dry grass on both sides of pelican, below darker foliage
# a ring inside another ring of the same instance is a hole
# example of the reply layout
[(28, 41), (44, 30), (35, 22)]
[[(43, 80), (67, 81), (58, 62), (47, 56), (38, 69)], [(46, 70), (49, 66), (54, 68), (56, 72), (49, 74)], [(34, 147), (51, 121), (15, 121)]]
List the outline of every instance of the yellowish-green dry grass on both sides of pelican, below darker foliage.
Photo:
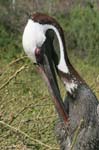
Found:
[[(76, 58), (72, 63), (99, 98), (99, 69)], [(57, 114), (33, 65), (25, 58), (11, 65), (1, 62), (0, 68), (0, 149), (59, 149), (54, 134)], [(62, 86), (61, 91), (64, 95)]]

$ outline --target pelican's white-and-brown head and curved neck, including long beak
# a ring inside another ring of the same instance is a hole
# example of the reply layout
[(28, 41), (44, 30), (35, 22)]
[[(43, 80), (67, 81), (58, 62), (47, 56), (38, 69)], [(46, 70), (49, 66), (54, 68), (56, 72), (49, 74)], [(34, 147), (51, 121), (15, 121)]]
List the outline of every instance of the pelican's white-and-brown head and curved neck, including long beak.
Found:
[[(55, 34), (59, 42), (59, 50), (53, 45)], [(68, 114), (60, 95), (56, 73), (61, 77), (70, 94), (77, 88), (77, 82), (72, 75), (75, 71), (67, 56), (61, 26), (54, 18), (35, 13), (25, 26), (22, 43), (26, 54), (33, 63), (37, 64), (40, 74), (43, 75), (57, 111), (64, 122), (67, 122)]]

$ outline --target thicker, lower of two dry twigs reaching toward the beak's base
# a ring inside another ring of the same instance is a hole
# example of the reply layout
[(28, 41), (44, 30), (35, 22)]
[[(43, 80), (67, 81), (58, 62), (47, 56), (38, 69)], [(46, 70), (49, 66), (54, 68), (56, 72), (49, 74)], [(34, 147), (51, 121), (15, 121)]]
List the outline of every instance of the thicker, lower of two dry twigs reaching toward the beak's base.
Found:
[(6, 85), (8, 85), (9, 82), (10, 82), (13, 78), (15, 78), (19, 72), (21, 72), (22, 70), (24, 70), (24, 69), (26, 68), (26, 66), (27, 66), (27, 65), (22, 66), (22, 67), (19, 68), (12, 76), (10, 76), (9, 79), (8, 79), (4, 84), (1, 85), (0, 90), (3, 89)]

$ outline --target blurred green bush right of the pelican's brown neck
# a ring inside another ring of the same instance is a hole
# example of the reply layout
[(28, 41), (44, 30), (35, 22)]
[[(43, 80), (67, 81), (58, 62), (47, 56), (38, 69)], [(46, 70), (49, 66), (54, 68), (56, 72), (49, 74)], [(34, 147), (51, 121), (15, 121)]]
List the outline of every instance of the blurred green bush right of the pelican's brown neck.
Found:
[(69, 49), (99, 65), (99, 10), (96, 5), (76, 6), (70, 12), (65, 31)]

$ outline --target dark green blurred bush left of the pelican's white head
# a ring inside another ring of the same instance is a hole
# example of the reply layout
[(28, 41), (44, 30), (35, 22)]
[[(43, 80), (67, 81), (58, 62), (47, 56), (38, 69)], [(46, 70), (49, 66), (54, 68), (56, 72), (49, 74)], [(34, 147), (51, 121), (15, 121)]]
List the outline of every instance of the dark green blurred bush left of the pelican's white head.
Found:
[(0, 25), (0, 60), (6, 63), (22, 54), (21, 37)]

